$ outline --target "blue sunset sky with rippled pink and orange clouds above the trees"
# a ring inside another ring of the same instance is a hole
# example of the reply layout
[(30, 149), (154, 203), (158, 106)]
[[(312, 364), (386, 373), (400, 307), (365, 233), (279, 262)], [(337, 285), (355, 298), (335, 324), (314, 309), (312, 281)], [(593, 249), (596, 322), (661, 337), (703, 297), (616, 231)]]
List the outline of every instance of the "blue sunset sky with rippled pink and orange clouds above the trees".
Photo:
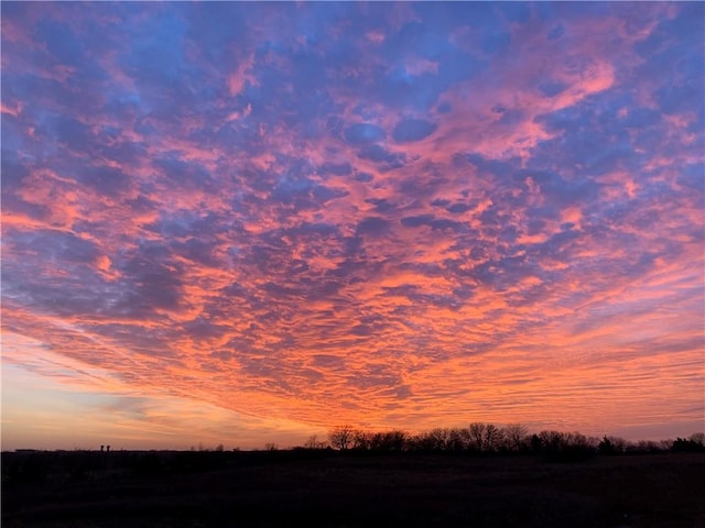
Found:
[(2, 2), (2, 449), (705, 429), (705, 4)]

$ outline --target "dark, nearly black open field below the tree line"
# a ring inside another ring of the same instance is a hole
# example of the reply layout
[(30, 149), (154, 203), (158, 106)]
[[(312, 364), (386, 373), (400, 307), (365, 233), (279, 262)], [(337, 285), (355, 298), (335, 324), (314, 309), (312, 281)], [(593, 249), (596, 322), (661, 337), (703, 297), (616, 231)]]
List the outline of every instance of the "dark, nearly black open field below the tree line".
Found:
[(705, 454), (2, 454), (2, 527), (705, 527)]

